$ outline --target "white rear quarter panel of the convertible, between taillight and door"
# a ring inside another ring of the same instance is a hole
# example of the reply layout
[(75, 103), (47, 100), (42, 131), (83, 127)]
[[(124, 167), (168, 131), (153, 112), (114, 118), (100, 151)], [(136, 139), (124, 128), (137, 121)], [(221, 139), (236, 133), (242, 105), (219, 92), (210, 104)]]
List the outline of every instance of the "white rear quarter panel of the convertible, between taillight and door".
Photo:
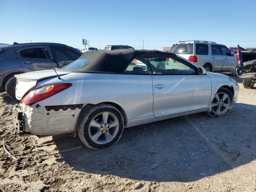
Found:
[(153, 115), (151, 75), (70, 73), (61, 78), (38, 83), (37, 87), (65, 82), (73, 84), (38, 104), (52, 106), (113, 102), (124, 109), (128, 120)]

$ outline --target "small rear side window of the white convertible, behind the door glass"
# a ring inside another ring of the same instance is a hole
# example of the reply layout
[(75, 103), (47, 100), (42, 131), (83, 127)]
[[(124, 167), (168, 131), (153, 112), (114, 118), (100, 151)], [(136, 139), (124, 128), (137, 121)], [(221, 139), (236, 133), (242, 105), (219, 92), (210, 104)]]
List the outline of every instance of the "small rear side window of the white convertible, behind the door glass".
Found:
[(125, 74), (150, 74), (148, 68), (148, 61), (144, 57), (138, 57), (132, 60), (126, 70)]

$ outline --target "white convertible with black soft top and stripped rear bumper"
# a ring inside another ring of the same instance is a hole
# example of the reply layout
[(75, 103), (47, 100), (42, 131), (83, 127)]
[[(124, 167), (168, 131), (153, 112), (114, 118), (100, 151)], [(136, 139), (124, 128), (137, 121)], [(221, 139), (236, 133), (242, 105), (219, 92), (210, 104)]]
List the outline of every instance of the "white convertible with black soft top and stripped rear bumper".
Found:
[(198, 112), (224, 116), (239, 91), (228, 76), (146, 50), (86, 52), (62, 69), (15, 77), (20, 134), (78, 133), (95, 149), (115, 144), (124, 128)]

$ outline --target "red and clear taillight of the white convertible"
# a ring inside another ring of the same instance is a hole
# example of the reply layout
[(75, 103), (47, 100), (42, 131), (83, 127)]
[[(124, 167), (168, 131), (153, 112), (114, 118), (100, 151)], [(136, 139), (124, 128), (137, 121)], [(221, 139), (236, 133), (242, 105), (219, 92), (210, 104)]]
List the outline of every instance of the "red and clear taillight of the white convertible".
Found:
[(28, 94), (26, 94), (21, 102), (25, 104), (34, 104), (38, 101), (42, 101), (46, 98), (49, 98), (69, 87), (71, 87), (71, 83), (64, 83), (64, 84), (54, 84), (54, 85), (47, 85), (40, 88), (37, 88), (35, 90), (30, 91)]

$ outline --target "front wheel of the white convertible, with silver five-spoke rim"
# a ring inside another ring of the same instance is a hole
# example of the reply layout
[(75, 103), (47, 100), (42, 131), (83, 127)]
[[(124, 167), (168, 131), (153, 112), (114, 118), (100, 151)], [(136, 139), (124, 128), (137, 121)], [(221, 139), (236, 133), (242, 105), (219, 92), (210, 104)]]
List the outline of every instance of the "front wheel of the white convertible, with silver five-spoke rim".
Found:
[(222, 117), (226, 116), (232, 110), (234, 97), (230, 90), (220, 88), (214, 96), (211, 104), (211, 116)]

